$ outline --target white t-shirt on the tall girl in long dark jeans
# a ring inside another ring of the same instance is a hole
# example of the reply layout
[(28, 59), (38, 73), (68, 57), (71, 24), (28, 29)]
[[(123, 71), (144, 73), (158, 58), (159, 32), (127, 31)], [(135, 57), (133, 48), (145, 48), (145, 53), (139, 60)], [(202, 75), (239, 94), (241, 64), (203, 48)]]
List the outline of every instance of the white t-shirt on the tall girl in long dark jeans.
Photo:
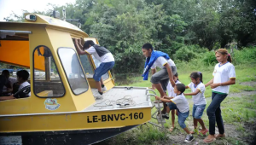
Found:
[[(222, 66), (219, 66), (220, 63), (218, 63), (214, 71), (212, 73), (213, 75), (213, 83), (224, 83), (230, 80), (230, 78), (236, 78), (236, 72), (235, 67), (232, 65), (232, 63), (227, 62)], [(212, 89), (214, 92), (229, 94), (230, 85), (224, 85), (224, 86), (218, 86), (217, 88)]]

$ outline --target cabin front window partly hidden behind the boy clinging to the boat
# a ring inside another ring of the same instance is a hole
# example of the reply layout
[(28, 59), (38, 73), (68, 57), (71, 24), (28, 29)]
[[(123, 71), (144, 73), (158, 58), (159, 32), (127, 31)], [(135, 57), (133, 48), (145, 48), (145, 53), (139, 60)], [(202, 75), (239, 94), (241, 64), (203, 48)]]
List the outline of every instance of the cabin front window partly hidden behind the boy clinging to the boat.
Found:
[[(96, 58), (93, 55), (91, 55), (91, 56), (92, 56), (92, 59), (93, 59), (95, 65), (96, 65), (96, 67), (99, 67), (102, 62), (96, 60)], [(88, 55), (80, 55), (80, 60), (81, 60), (82, 66), (84, 68), (84, 73), (86, 74), (86, 77), (87, 78), (93, 78), (94, 69), (91, 66), (89, 56)], [(108, 73), (105, 73), (104, 75), (102, 75), (103, 80), (106, 80), (108, 78), (109, 78)]]

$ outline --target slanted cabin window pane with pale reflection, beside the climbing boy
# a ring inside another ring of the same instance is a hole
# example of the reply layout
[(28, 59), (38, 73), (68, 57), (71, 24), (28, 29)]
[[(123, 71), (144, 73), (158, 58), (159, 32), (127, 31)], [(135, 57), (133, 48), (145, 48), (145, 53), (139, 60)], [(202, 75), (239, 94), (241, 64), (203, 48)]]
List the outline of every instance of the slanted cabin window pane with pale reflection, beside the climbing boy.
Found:
[(59, 48), (58, 54), (62, 67), (65, 70), (68, 83), (73, 90), (73, 94), (79, 95), (89, 89), (84, 72), (79, 62), (79, 57), (71, 48)]

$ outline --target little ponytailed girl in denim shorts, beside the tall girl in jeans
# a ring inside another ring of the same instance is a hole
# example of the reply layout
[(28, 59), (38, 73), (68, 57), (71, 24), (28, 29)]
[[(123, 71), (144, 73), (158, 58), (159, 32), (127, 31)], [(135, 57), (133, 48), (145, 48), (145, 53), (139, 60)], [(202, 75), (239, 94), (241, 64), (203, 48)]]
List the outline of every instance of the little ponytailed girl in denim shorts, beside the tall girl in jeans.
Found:
[(200, 72), (191, 73), (190, 78), (192, 82), (186, 86), (186, 89), (190, 88), (192, 93), (184, 94), (184, 96), (192, 96), (194, 102), (192, 116), (195, 130), (191, 131), (190, 133), (194, 134), (195, 131), (197, 131), (197, 122), (199, 122), (202, 127), (199, 133), (206, 135), (208, 130), (204, 124), (204, 121), (201, 119), (201, 116), (207, 106), (207, 101), (204, 96), (206, 87), (205, 84), (202, 83), (202, 74)]

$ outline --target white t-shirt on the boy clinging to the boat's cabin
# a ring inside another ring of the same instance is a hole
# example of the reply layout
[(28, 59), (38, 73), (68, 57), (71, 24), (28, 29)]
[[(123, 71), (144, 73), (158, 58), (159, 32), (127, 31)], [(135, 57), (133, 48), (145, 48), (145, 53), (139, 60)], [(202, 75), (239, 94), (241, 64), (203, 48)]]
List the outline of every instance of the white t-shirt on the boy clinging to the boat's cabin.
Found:
[(102, 57), (100, 57), (97, 52), (96, 49), (93, 46), (90, 46), (89, 49), (85, 49), (86, 52), (88, 52), (90, 55), (94, 55), (94, 57), (101, 62), (113, 62), (114, 58), (113, 55), (111, 53), (102, 55)]

